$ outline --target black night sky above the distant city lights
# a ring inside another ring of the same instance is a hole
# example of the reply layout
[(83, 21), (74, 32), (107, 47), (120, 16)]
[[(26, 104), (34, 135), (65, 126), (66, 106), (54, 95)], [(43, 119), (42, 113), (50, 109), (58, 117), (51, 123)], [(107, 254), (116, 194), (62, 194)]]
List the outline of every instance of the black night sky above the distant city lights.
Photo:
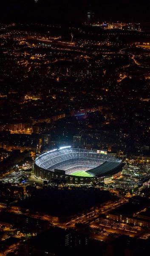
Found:
[(0, 19), (83, 22), (87, 11), (94, 12), (99, 21), (150, 21), (150, 1), (136, 0), (5, 0)]

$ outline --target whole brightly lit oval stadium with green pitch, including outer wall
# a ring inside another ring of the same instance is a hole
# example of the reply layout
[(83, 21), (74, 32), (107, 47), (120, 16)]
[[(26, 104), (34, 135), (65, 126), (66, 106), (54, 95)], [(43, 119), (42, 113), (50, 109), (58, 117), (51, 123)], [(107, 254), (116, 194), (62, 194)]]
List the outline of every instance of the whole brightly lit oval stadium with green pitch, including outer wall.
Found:
[(109, 182), (119, 177), (124, 163), (109, 154), (71, 148), (53, 149), (35, 160), (34, 175), (41, 180), (62, 180), (68, 184)]

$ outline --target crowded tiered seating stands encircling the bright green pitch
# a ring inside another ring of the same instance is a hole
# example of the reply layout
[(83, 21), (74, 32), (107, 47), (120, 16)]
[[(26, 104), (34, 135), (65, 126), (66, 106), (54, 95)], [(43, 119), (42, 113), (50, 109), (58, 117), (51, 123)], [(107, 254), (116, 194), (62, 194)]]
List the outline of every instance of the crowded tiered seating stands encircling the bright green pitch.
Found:
[(93, 177), (104, 177), (115, 174), (122, 169), (121, 160), (109, 154), (99, 154), (82, 148), (62, 148), (41, 154), (35, 160), (35, 165), (41, 170), (54, 172), (64, 170), (65, 175), (77, 171), (85, 171)]

